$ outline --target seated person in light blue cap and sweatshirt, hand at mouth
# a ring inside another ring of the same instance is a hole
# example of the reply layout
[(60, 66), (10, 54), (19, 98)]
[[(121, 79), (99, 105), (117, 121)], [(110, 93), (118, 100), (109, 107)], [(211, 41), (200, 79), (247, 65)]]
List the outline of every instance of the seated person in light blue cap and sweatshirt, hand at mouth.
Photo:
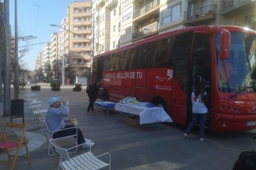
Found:
[[(61, 107), (61, 103), (63, 103), (63, 107)], [(80, 129), (74, 127), (73, 124), (65, 124), (65, 121), (70, 121), (68, 119), (69, 102), (61, 101), (59, 97), (51, 97), (49, 99), (49, 106), (46, 123), (49, 127), (49, 131), (57, 131), (53, 133), (53, 139), (77, 134), (75, 139), (77, 139), (77, 144), (83, 144), (81, 146), (82, 148), (92, 147), (95, 144), (94, 142), (91, 142), (92, 140), (83, 138), (83, 134)]]

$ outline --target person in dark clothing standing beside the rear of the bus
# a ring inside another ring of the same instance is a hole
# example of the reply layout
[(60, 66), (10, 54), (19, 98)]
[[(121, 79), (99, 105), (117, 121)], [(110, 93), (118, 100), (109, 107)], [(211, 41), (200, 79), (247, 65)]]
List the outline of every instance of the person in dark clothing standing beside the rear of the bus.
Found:
[(95, 100), (98, 98), (99, 91), (100, 91), (99, 81), (96, 81), (96, 83), (94, 83), (93, 85), (92, 84), (89, 85), (88, 97), (89, 97), (90, 103), (87, 108), (87, 114), (90, 114), (90, 110), (92, 110), (91, 113), (95, 113), (95, 111), (93, 110), (93, 105)]

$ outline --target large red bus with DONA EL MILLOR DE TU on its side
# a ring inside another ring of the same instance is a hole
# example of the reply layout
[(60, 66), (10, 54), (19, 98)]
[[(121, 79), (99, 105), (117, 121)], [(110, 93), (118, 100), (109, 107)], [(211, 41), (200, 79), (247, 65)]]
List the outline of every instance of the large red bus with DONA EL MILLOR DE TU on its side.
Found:
[(132, 96), (161, 105), (174, 123), (190, 122), (190, 97), (203, 81), (213, 132), (256, 128), (256, 32), (238, 26), (195, 26), (158, 34), (93, 59), (103, 100)]

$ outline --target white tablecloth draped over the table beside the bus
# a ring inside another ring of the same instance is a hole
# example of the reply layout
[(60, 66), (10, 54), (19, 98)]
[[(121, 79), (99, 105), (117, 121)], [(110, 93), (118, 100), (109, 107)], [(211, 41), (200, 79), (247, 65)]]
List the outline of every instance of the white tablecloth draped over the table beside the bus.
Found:
[(132, 115), (140, 116), (140, 124), (156, 123), (156, 122), (173, 122), (170, 116), (161, 107), (138, 107), (134, 105), (124, 105), (122, 103), (116, 103), (114, 109), (117, 111), (123, 111)]

